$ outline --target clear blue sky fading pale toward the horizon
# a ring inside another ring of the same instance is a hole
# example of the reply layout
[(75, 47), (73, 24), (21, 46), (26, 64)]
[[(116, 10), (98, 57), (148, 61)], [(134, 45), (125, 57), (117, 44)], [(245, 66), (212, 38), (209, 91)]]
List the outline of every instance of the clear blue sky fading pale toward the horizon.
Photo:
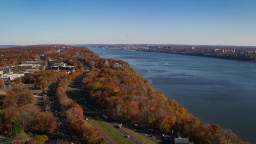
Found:
[(256, 46), (256, 0), (0, 0), (0, 45)]

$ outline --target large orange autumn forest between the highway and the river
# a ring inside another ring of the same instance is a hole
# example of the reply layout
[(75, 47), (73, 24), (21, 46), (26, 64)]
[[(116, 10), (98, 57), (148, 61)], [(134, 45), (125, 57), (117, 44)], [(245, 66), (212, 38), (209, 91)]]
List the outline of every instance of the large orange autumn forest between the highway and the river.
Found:
[[(244, 143), (230, 130), (200, 122), (178, 102), (153, 89), (127, 62), (102, 59), (93, 52), (79, 59), (91, 67), (83, 79), (85, 97), (108, 116), (164, 133), (173, 130), (195, 143)], [(113, 62), (122, 67), (106, 65)]]

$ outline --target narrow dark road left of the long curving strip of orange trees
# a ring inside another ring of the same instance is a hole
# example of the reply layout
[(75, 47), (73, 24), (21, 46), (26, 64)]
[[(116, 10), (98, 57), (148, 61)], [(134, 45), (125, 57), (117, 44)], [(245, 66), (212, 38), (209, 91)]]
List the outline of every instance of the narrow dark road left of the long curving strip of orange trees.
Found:
[(55, 88), (56, 88), (56, 84), (53, 84), (49, 91), (47, 91), (47, 99), (49, 102), (49, 106), (52, 110), (52, 114), (53, 116), (57, 117), (57, 125), (59, 128), (59, 132), (61, 132), (61, 134), (63, 135), (63, 140), (67, 141), (69, 143), (77, 143), (77, 141), (75, 140), (75, 138), (73, 137), (72, 133), (70, 132), (70, 130), (68, 129), (65, 121), (63, 120), (61, 114), (59, 113), (58, 108), (55, 105)]

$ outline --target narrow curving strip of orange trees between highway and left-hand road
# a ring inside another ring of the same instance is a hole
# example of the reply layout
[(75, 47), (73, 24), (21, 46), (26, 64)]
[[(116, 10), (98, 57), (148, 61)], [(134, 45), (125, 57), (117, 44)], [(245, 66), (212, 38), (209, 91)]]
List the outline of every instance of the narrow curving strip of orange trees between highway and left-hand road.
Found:
[(58, 98), (60, 109), (66, 114), (71, 130), (84, 143), (107, 143), (101, 133), (83, 119), (83, 109), (76, 102), (69, 102), (64, 87), (68, 84), (67, 79), (60, 79), (56, 97)]

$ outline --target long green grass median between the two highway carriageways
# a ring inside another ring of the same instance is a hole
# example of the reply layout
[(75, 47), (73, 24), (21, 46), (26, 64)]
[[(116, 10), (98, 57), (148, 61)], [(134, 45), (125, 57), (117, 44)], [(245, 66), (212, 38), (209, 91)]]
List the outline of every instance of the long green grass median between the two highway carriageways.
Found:
[(115, 131), (113, 129), (113, 127), (110, 127), (108, 124), (106, 124), (104, 121), (102, 121), (102, 119), (100, 119), (99, 117), (95, 116), (91, 110), (87, 109), (84, 106), (84, 103), (77, 98), (76, 96), (76, 91), (75, 88), (73, 88), (74, 86), (71, 86), (70, 88), (70, 98), (74, 101), (77, 102), (84, 110), (84, 115), (90, 117), (90, 120), (94, 123), (97, 124), (97, 126), (99, 127), (100, 130), (102, 130), (103, 132), (105, 132), (105, 134), (107, 134), (109, 136), (109, 138), (111, 138), (115, 143), (130, 143), (129, 141), (127, 141), (123, 135), (119, 134), (117, 131)]

